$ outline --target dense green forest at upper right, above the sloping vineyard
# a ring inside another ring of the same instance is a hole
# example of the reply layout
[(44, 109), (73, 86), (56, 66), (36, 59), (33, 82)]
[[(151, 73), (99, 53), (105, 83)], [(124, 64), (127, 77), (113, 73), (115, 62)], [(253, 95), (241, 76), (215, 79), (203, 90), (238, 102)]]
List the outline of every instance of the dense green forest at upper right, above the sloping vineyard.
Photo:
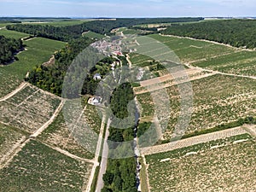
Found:
[(207, 39), (247, 49), (256, 48), (256, 20), (218, 20), (169, 26), (166, 35)]

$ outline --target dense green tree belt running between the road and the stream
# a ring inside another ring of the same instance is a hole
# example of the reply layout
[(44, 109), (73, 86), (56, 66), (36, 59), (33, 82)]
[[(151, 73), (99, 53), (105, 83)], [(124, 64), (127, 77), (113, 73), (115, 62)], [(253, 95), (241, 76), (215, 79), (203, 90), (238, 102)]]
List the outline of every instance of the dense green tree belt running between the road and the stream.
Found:
[[(111, 97), (111, 109), (113, 114), (120, 119), (128, 116), (127, 105), (134, 98), (134, 93), (130, 83), (121, 84), (113, 91)], [(134, 138), (133, 127), (129, 129), (117, 129), (110, 127), (108, 141), (128, 142)], [(121, 153), (118, 143), (108, 143), (109, 153)], [(131, 146), (132, 148), (132, 146)], [(124, 151), (125, 153), (125, 151)], [(104, 188), (102, 192), (136, 192), (136, 159), (108, 159), (107, 171), (103, 175)]]

